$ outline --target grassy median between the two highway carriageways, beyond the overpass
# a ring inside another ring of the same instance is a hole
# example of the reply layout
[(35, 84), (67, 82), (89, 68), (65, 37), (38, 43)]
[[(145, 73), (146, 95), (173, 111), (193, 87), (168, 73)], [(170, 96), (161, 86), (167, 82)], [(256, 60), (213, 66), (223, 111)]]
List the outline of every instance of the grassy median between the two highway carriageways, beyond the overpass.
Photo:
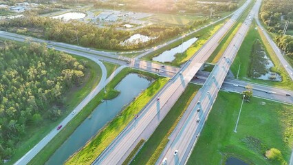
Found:
[(206, 61), (207, 63), (217, 63), (219, 61), (219, 58), (224, 54), (225, 50), (227, 49), (228, 45), (234, 38), (234, 36), (237, 34), (239, 28), (241, 27), (242, 23), (248, 16), (248, 13), (252, 6), (254, 5), (254, 1), (248, 5), (248, 8), (243, 12), (241, 17), (237, 20), (237, 23), (232, 25), (230, 30), (226, 33), (226, 35), (222, 38), (221, 43), (219, 43), (219, 46), (216, 48), (216, 50), (213, 52), (212, 55), (208, 58)]

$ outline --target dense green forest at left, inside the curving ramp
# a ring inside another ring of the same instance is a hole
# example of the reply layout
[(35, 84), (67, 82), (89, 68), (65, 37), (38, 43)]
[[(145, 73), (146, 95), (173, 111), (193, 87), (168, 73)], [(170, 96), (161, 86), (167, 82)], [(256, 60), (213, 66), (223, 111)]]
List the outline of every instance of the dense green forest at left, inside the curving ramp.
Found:
[(30, 126), (57, 120), (62, 96), (83, 81), (76, 58), (39, 43), (0, 45), (0, 164)]

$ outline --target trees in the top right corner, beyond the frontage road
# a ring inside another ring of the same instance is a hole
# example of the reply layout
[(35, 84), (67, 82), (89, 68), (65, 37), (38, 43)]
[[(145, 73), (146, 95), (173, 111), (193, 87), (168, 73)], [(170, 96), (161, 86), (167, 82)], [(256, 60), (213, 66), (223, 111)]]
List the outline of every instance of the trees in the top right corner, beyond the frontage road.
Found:
[[(286, 50), (286, 55), (293, 59), (293, 36), (284, 35), (285, 23), (288, 21), (287, 30), (293, 30), (293, 1), (292, 0), (265, 0), (261, 6), (259, 17), (268, 30), (279, 33), (274, 41), (282, 49)], [(287, 46), (287, 47), (286, 47)], [(286, 49), (285, 49), (286, 48)]]

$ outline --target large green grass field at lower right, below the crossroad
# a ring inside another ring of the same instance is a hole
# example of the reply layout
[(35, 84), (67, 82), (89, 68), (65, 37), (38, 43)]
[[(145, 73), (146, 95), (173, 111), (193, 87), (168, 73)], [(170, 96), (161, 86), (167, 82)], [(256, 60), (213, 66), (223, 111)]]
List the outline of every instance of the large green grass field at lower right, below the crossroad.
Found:
[(225, 164), (230, 156), (248, 164), (280, 164), (263, 156), (272, 147), (279, 149), (286, 161), (290, 159), (292, 105), (252, 98), (243, 103), (235, 133), (240, 105), (239, 94), (219, 92), (187, 164)]

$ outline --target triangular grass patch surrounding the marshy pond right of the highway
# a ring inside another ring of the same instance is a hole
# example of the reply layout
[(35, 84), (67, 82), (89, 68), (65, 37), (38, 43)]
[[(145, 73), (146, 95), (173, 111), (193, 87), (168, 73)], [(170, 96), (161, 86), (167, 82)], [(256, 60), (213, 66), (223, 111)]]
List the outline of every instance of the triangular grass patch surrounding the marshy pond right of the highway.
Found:
[[(265, 39), (265, 36), (263, 36), (263, 33), (261, 31), (261, 28), (257, 28), (256, 23), (253, 21), (252, 25), (250, 26), (250, 30), (248, 31), (248, 34), (246, 35), (243, 44), (241, 45), (237, 56), (235, 57), (235, 60), (233, 61), (230, 69), (234, 75), (237, 75), (237, 71), (240, 67), (240, 72), (239, 72), (239, 79), (240, 80), (246, 80), (250, 81), (252, 83), (259, 83), (263, 85), (269, 85), (273, 87), (280, 87), (284, 89), (293, 89), (293, 83), (291, 78), (287, 75), (287, 72), (283, 68), (283, 66), (280, 67), (279, 71), (277, 70), (277, 67), (279, 65), (279, 58), (274, 54), (274, 51), (272, 50), (272, 47), (270, 47), (270, 44), (268, 41)], [(272, 72), (276, 72), (280, 74), (283, 78), (281, 82), (274, 82), (272, 80), (259, 80), (257, 78), (250, 78), (248, 77), (248, 69), (250, 67), (250, 54), (252, 53), (252, 48), (255, 43), (259, 39), (261, 43), (265, 47), (265, 52), (274, 63), (275, 67), (271, 68)]]

